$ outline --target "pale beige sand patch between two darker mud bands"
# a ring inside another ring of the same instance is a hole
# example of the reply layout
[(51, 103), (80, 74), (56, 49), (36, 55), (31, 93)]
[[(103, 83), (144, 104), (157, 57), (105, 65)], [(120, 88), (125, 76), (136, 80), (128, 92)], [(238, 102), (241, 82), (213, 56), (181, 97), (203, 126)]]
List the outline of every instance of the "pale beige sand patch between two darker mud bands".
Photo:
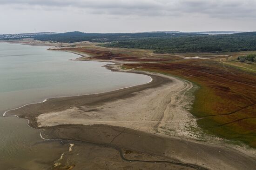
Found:
[[(125, 99), (114, 99), (93, 105), (74, 105), (68, 109), (46, 112), (37, 117), (39, 127), (60, 124), (108, 124), (136, 130), (182, 136), (189, 122), (181, 101), (192, 84), (176, 78), (155, 88), (134, 92)], [(90, 97), (91, 98), (91, 97)], [(89, 98), (88, 98), (89, 99)], [(179, 112), (180, 114), (175, 114)]]

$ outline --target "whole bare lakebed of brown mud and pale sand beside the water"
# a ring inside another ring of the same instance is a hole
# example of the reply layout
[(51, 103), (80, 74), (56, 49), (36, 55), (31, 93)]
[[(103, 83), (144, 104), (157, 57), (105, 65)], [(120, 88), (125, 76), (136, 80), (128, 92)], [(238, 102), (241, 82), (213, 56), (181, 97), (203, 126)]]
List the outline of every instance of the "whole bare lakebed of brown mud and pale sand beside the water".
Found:
[(7, 115), (29, 119), (31, 126), (44, 130), (42, 137), (74, 143), (52, 169), (256, 169), (255, 157), (188, 139), (197, 139), (186, 129), (187, 124), (196, 126), (185, 108), (193, 99), (188, 97), (193, 85), (150, 76), (152, 81), (145, 85), (51, 98)]

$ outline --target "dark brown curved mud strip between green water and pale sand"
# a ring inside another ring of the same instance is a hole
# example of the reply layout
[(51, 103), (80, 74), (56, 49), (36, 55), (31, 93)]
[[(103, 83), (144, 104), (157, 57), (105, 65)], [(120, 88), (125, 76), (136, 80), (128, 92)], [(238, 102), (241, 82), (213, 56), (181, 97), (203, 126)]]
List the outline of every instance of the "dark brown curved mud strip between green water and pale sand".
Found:
[(4, 116), (18, 116), (19, 118), (29, 119), (29, 125), (31, 127), (38, 127), (35, 120), (40, 114), (50, 112), (50, 111), (63, 111), (74, 106), (82, 105), (95, 105), (95, 103), (104, 103), (108, 101), (113, 101), (121, 98), (128, 98), (133, 96), (134, 92), (140, 92), (148, 88), (158, 87), (159, 85), (164, 85), (171, 80), (168, 78), (162, 78), (160, 76), (149, 75), (152, 80), (143, 85), (135, 85), (132, 87), (122, 88), (115, 91), (79, 95), (71, 97), (58, 97), (58, 98), (47, 98), (43, 102), (27, 104), (19, 108), (14, 108), (6, 111)]

